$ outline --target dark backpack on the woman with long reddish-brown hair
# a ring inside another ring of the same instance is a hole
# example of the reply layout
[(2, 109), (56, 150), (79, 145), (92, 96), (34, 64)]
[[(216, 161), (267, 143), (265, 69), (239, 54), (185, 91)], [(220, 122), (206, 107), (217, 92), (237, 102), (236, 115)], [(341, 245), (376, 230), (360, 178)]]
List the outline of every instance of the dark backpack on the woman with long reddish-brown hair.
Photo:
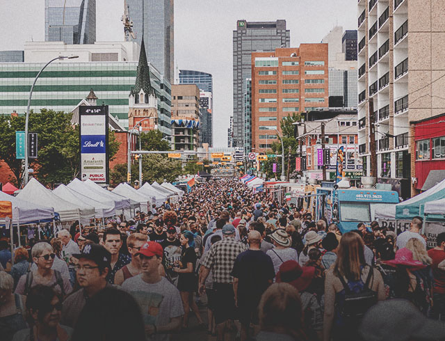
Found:
[(350, 290), (350, 287), (346, 284), (343, 276), (339, 277), (345, 290), (345, 301), (343, 303), (343, 308), (340, 310), (340, 314), (343, 318), (357, 321), (363, 317), (369, 308), (377, 303), (377, 292), (374, 292), (369, 287), (372, 277), (373, 268), (369, 267), (368, 277), (359, 292)]

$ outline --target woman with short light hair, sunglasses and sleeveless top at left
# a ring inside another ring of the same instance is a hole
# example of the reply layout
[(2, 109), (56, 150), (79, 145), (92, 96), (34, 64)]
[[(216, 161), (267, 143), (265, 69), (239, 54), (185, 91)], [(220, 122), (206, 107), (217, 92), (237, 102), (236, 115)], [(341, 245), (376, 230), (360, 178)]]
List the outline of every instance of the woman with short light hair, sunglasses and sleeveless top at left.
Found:
[(66, 296), (72, 291), (70, 280), (62, 276), (59, 271), (51, 269), (56, 253), (54, 248), (48, 243), (35, 244), (31, 250), (33, 262), (37, 269), (28, 271), (19, 279), (16, 294), (27, 295), (35, 285), (47, 285), (61, 296)]

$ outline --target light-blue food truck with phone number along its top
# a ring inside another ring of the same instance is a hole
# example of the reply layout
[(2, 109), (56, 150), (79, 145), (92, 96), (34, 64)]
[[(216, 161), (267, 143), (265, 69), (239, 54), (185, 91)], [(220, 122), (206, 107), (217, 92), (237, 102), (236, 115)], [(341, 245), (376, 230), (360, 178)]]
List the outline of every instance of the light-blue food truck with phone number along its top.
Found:
[(396, 191), (381, 189), (316, 189), (316, 219), (336, 223), (341, 233), (357, 230), (358, 223), (367, 227), (374, 220), (376, 205), (398, 203)]

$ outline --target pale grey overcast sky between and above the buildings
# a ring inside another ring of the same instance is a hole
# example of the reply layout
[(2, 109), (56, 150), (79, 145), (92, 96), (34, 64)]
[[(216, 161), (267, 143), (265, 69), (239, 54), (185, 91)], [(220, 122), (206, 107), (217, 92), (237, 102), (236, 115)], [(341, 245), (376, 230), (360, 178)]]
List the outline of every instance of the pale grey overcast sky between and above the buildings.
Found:
[[(161, 0), (159, 0), (161, 1)], [(97, 40), (123, 40), (124, 0), (96, 0)], [(0, 0), (0, 50), (44, 40), (44, 0)], [(236, 20), (286, 19), (291, 47), (357, 28), (357, 0), (175, 0), (175, 65), (213, 74), (213, 145), (227, 146)]]

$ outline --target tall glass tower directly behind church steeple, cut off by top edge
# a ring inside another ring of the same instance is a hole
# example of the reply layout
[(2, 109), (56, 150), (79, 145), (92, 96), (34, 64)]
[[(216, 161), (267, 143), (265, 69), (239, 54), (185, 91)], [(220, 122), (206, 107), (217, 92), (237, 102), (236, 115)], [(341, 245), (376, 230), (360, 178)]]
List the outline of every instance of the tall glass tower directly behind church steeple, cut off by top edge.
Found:
[(127, 0), (129, 17), (138, 42), (144, 36), (149, 63), (172, 82), (174, 72), (174, 0)]

